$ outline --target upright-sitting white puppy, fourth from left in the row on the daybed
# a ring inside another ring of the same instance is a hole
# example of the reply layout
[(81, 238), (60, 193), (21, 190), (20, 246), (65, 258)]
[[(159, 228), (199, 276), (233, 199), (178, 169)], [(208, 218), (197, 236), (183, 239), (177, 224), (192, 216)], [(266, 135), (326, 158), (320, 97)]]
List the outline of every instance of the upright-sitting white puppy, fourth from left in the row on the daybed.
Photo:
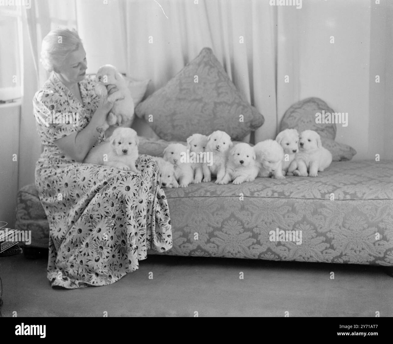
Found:
[(211, 175), (217, 176), (216, 184), (224, 178), (228, 151), (232, 146), (231, 137), (225, 131), (217, 130), (208, 136), (206, 152), (211, 152), (212, 164), (206, 169), (204, 182), (210, 182)]

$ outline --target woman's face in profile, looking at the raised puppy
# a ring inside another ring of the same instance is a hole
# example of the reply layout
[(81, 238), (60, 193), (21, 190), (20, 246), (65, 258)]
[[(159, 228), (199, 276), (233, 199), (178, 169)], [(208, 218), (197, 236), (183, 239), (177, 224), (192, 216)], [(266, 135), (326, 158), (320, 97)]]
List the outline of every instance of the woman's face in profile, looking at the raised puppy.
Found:
[(64, 63), (58, 68), (57, 73), (60, 74), (63, 81), (66, 83), (79, 83), (86, 75), (87, 61), (86, 52), (82, 44), (78, 50), (67, 55)]

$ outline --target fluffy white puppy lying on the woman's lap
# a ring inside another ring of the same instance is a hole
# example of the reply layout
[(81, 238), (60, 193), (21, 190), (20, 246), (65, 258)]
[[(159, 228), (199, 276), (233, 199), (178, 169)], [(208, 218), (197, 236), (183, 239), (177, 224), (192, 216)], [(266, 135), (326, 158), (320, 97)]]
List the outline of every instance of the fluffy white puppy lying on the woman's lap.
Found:
[(139, 173), (135, 167), (138, 145), (139, 139), (134, 129), (116, 128), (109, 138), (90, 149), (83, 162)]

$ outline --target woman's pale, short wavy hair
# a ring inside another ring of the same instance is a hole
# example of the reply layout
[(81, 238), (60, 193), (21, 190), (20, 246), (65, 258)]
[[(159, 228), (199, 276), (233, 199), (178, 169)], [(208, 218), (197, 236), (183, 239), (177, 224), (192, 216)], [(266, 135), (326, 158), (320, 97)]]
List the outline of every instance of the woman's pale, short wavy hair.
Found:
[(81, 45), (82, 40), (75, 29), (54, 29), (42, 40), (40, 61), (48, 72), (57, 72), (67, 55)]

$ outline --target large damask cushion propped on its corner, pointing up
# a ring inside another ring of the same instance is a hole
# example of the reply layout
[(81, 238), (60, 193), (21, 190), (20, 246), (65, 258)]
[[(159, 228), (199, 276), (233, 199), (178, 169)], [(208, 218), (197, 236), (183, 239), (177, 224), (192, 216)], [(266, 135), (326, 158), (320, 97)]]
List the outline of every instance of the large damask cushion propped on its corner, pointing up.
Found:
[(210, 48), (202, 49), (167, 85), (140, 103), (135, 114), (167, 141), (186, 141), (192, 134), (208, 135), (215, 130), (241, 141), (264, 122)]

